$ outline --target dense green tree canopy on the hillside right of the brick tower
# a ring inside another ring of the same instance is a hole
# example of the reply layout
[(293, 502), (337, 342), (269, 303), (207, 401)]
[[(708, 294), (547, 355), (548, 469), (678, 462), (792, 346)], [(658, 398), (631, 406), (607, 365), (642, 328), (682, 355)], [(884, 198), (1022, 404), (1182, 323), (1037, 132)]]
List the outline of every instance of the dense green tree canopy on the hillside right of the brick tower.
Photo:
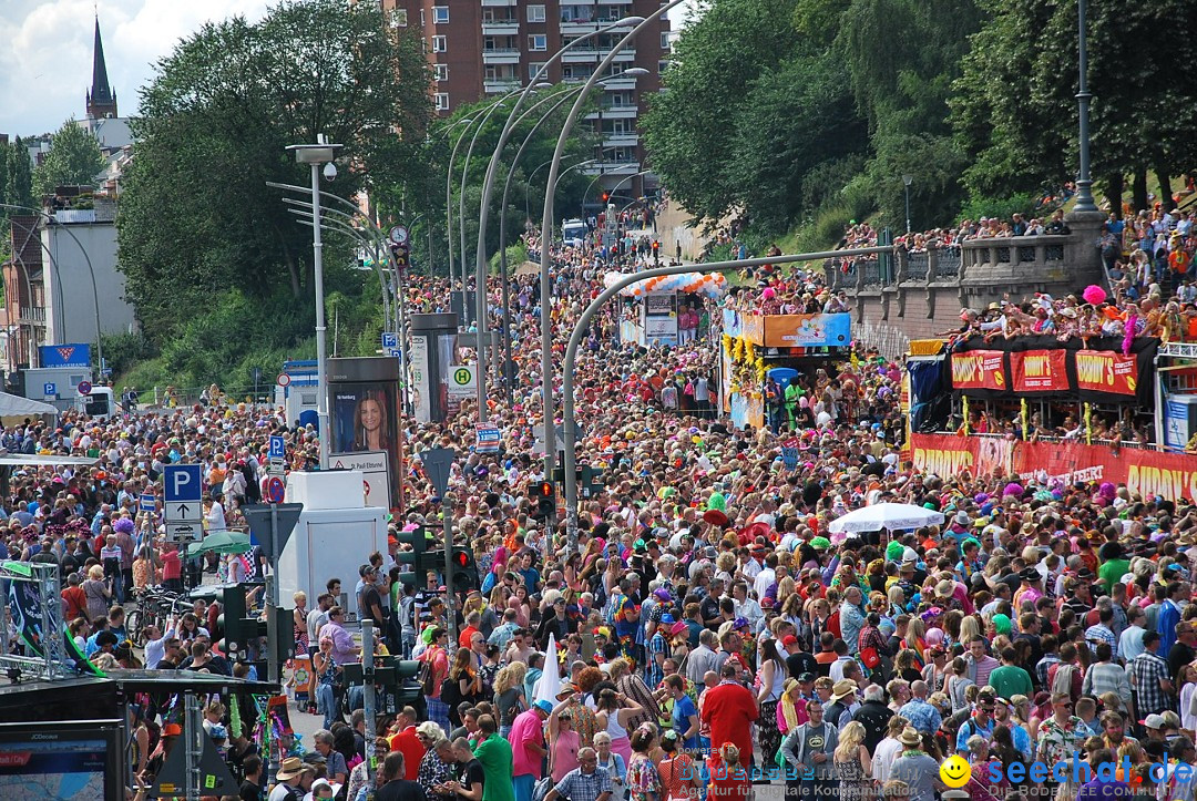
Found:
[[(1093, 174), (1118, 200), (1187, 174), (1197, 35), (1185, 0), (1090, 4)], [(768, 237), (824, 212), (916, 227), (1076, 174), (1077, 8), (1051, 0), (707, 0), (642, 131), (691, 212)], [(1160, 32), (1168, 31), (1167, 42)], [(1144, 51), (1144, 42), (1153, 42)], [(830, 232), (830, 226), (828, 226)]]

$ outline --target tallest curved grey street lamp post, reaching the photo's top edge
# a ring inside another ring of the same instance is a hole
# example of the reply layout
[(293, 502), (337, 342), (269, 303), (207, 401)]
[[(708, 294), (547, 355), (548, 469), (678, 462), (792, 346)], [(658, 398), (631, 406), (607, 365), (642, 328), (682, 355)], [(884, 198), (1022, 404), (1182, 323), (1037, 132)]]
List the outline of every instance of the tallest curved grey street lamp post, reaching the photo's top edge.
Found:
[[(560, 163), (561, 156), (565, 152), (565, 142), (573, 132), (573, 126), (578, 121), (578, 116), (582, 114), (582, 107), (585, 104), (587, 96), (590, 95), (590, 90), (594, 89), (595, 84), (598, 83), (598, 78), (610, 68), (610, 65), (615, 61), (620, 50), (627, 47), (628, 42), (634, 40), (642, 30), (648, 25), (657, 22), (664, 14), (669, 13), (670, 10), (680, 6), (685, 0), (672, 0), (662, 5), (660, 8), (645, 17), (644, 22), (632, 29), (630, 34), (624, 36), (615, 45), (610, 49), (610, 53), (598, 63), (597, 68), (590, 73), (590, 78), (587, 79), (585, 85), (582, 87), (582, 92), (578, 98), (573, 102), (573, 108), (570, 109), (570, 116), (565, 120), (565, 125), (561, 126), (561, 133), (557, 138), (557, 148), (553, 151), (553, 164), (548, 168), (548, 189), (545, 192), (545, 211), (541, 216), (540, 233), (542, 239), (542, 245), (540, 249), (540, 339), (541, 339), (541, 392), (542, 392), (542, 403), (543, 403), (543, 423), (545, 423), (545, 473), (552, 475), (553, 463), (555, 461), (555, 448), (557, 448), (557, 432), (553, 430), (553, 332), (551, 326), (549, 314), (552, 311), (552, 304), (549, 303), (549, 281), (548, 281), (548, 265), (549, 265), (549, 244), (553, 241), (553, 189), (557, 186), (557, 181), (560, 177)], [(570, 429), (573, 425), (572, 420), (565, 420), (565, 427)], [(576, 514), (577, 510), (575, 510)], [(569, 514), (569, 510), (566, 510)]]

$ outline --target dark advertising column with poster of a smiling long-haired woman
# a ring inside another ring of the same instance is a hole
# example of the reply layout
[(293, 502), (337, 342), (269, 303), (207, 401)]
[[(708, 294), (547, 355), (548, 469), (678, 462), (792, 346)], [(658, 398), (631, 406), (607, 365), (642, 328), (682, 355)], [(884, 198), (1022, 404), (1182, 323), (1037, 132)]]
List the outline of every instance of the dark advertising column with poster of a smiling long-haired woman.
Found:
[(329, 466), (364, 474), (367, 506), (399, 498), (399, 359), (328, 359)]

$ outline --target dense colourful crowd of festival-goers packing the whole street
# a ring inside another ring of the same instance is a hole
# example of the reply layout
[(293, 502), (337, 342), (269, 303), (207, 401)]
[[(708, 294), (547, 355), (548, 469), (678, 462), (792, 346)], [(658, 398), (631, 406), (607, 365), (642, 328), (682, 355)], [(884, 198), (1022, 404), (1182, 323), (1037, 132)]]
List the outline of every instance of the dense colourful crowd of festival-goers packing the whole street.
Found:
[[(205, 728), (244, 782), (238, 797), (740, 800), (772, 782), (788, 797), (932, 801), (952, 754), (972, 766), (978, 799), (1193, 797), (1180, 767), (1197, 758), (1197, 508), (1110, 484), (919, 473), (901, 455), (900, 369), (863, 345), (802, 375), (792, 394), (778, 388), (770, 425), (736, 429), (716, 369), (722, 310), (837, 310), (816, 273), (762, 271), (755, 285), (701, 301), (704, 335), (679, 347), (621, 344), (625, 302), (603, 309), (577, 359), (579, 465), (601, 475), (581, 500), (577, 548), (564, 515), (539, 517), (529, 487), (551, 478), (535, 445), (546, 413), (541, 305), (559, 360), (602, 274), (646, 257), (554, 248), (549, 297), (539, 277), (515, 279), (515, 402), (498, 386), (488, 399), (499, 454), (474, 450), (469, 401), (443, 424), (403, 420), (413, 453), (461, 456), (452, 529), (474, 547), (481, 588), (455, 605), (450, 641), (436, 577), (399, 581), (393, 539), (387, 553), (361, 554), (358, 576), (328, 576), (327, 593), (297, 596), (297, 641), (311, 661), (310, 684), (297, 687), (309, 700), (292, 711), (315, 711), (324, 727), (310, 750), (288, 742), (271, 776), (238, 705), (209, 705)], [(413, 278), (408, 309), (448, 310), (449, 289)], [(497, 284), (487, 296), (502, 330)], [(999, 307), (962, 323), (1002, 335), (1033, 327), (1021, 315), (1039, 320), (1034, 308), (1057, 324), (1081, 318), (1076, 301), (1038, 298), (1031, 311)], [(980, 328), (999, 317), (1005, 328)], [(213, 644), (214, 605), (196, 601), (139, 648), (122, 601), (157, 582), (180, 585), (188, 568), (162, 521), (139, 510), (163, 467), (203, 465), (208, 534), (237, 527), (239, 506), (260, 497), (272, 433), (286, 437), (292, 468), (315, 465), (315, 430), (219, 393), (165, 413), (68, 413), (6, 431), (22, 450), (98, 462), (16, 472), (2, 556), (60, 565), (66, 618), (97, 665), (249, 675)], [(393, 534), (443, 514), (423, 467), (408, 467)], [(943, 522), (833, 533), (838, 517), (881, 503)], [(261, 570), (239, 557), (211, 568), (231, 581)], [(358, 612), (385, 621), (376, 653), (421, 665), (421, 703), (373, 721), (373, 741), (360, 690), (344, 680), (360, 644), (335, 605), (342, 583)], [(130, 715), (140, 782), (178, 730), (169, 710)], [(1033, 785), (1031, 763), (1075, 754), (1125, 759), (1126, 770)]]

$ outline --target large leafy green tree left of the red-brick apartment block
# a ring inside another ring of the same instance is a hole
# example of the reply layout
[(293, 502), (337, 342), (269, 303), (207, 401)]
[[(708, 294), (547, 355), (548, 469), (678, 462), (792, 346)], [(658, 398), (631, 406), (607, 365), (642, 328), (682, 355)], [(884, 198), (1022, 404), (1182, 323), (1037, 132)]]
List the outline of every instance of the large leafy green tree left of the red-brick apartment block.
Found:
[[(377, 4), (285, 0), (256, 24), (235, 17), (180, 42), (142, 90), (117, 220), (151, 339), (225, 292), (310, 292), (310, 229), (266, 186), (309, 183), (286, 146), (317, 134), (342, 145), (339, 176), (322, 186), (342, 198), (419, 175), (429, 85), (418, 31)], [(348, 244), (329, 237), (326, 257), (347, 257)]]

